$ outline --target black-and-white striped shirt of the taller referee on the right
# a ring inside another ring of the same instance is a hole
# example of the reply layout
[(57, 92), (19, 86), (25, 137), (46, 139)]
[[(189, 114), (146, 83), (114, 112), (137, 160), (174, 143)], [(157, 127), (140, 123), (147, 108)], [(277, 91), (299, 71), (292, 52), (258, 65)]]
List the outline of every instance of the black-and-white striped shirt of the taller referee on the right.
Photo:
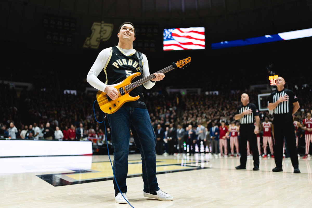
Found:
[(275, 103), (281, 96), (288, 95), (289, 100), (279, 103), (273, 110), (275, 115), (292, 115), (293, 103), (298, 101), (295, 93), (289, 89), (283, 89), (282, 91), (272, 92), (270, 95), (269, 103)]

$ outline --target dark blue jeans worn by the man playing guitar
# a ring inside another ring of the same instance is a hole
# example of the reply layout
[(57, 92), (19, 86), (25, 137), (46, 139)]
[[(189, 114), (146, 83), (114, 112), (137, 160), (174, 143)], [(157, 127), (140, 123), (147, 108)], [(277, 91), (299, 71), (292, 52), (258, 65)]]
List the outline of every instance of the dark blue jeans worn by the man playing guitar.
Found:
[[(141, 152), (143, 191), (158, 191), (156, 178), (155, 135), (146, 109), (122, 106), (113, 114), (107, 115), (110, 123), (112, 144), (114, 146), (113, 169), (115, 178), (122, 193), (127, 193), (126, 178), (128, 174), (128, 154), (130, 128), (134, 142)], [(114, 180), (115, 194), (119, 193)]]

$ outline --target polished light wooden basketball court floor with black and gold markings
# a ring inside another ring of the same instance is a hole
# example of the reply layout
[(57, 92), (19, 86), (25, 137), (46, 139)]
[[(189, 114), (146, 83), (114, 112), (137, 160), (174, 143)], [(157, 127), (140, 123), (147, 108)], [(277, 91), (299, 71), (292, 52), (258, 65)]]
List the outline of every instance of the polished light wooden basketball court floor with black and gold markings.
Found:
[[(260, 171), (252, 162), (236, 170), (238, 157), (157, 156), (159, 187), (173, 196), (158, 201), (143, 196), (141, 156), (129, 155), (127, 196), (135, 208), (312, 206), (310, 158), (300, 158), (300, 174), (287, 158), (283, 172), (272, 172), (274, 158), (261, 158)], [(112, 176), (108, 155), (2, 157), (0, 207), (130, 208), (115, 203)]]

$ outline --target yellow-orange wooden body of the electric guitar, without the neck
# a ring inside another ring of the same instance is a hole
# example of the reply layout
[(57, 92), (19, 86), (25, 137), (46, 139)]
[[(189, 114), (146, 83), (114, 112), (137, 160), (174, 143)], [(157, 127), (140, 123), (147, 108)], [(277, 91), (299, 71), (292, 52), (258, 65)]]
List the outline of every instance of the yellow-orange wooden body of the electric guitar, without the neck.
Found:
[[(133, 73), (131, 75), (129, 75), (124, 81), (122, 82), (119, 82), (115, 85), (110, 85), (110, 87), (114, 87), (116, 88), (118, 91), (119, 91), (119, 88), (121, 87), (125, 87), (129, 84), (131, 84), (132, 80), (141, 75), (140, 72), (136, 72), (136, 73)], [(131, 90), (130, 90), (131, 91)], [(115, 100), (108, 100), (107, 99), (107, 95), (105, 92), (102, 92), (102, 91), (98, 91), (97, 94), (96, 94), (96, 99), (98, 101), (98, 104), (100, 106), (100, 109), (104, 112), (104, 113), (107, 113), (107, 114), (113, 114), (115, 113), (124, 103), (126, 102), (129, 102), (129, 101), (135, 101), (135, 100), (138, 100), (140, 98), (140, 96), (135, 96), (135, 97), (132, 97), (129, 95), (129, 92), (130, 91), (127, 91), (125, 92), (124, 95), (121, 95), (119, 94), (118, 95), (118, 98), (115, 99)]]

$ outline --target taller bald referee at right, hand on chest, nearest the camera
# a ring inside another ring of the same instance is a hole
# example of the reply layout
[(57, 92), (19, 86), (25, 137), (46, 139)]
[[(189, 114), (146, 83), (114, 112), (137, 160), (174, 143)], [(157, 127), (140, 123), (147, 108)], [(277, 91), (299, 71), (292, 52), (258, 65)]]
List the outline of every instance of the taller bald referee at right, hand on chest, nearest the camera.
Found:
[(291, 163), (294, 173), (300, 173), (299, 162), (296, 148), (296, 136), (292, 115), (300, 108), (298, 98), (293, 91), (284, 88), (285, 80), (283, 77), (276, 79), (277, 91), (272, 92), (269, 99), (269, 110), (274, 114), (274, 159), (276, 167), (273, 172), (283, 171), (283, 144), (284, 137), (290, 152)]

